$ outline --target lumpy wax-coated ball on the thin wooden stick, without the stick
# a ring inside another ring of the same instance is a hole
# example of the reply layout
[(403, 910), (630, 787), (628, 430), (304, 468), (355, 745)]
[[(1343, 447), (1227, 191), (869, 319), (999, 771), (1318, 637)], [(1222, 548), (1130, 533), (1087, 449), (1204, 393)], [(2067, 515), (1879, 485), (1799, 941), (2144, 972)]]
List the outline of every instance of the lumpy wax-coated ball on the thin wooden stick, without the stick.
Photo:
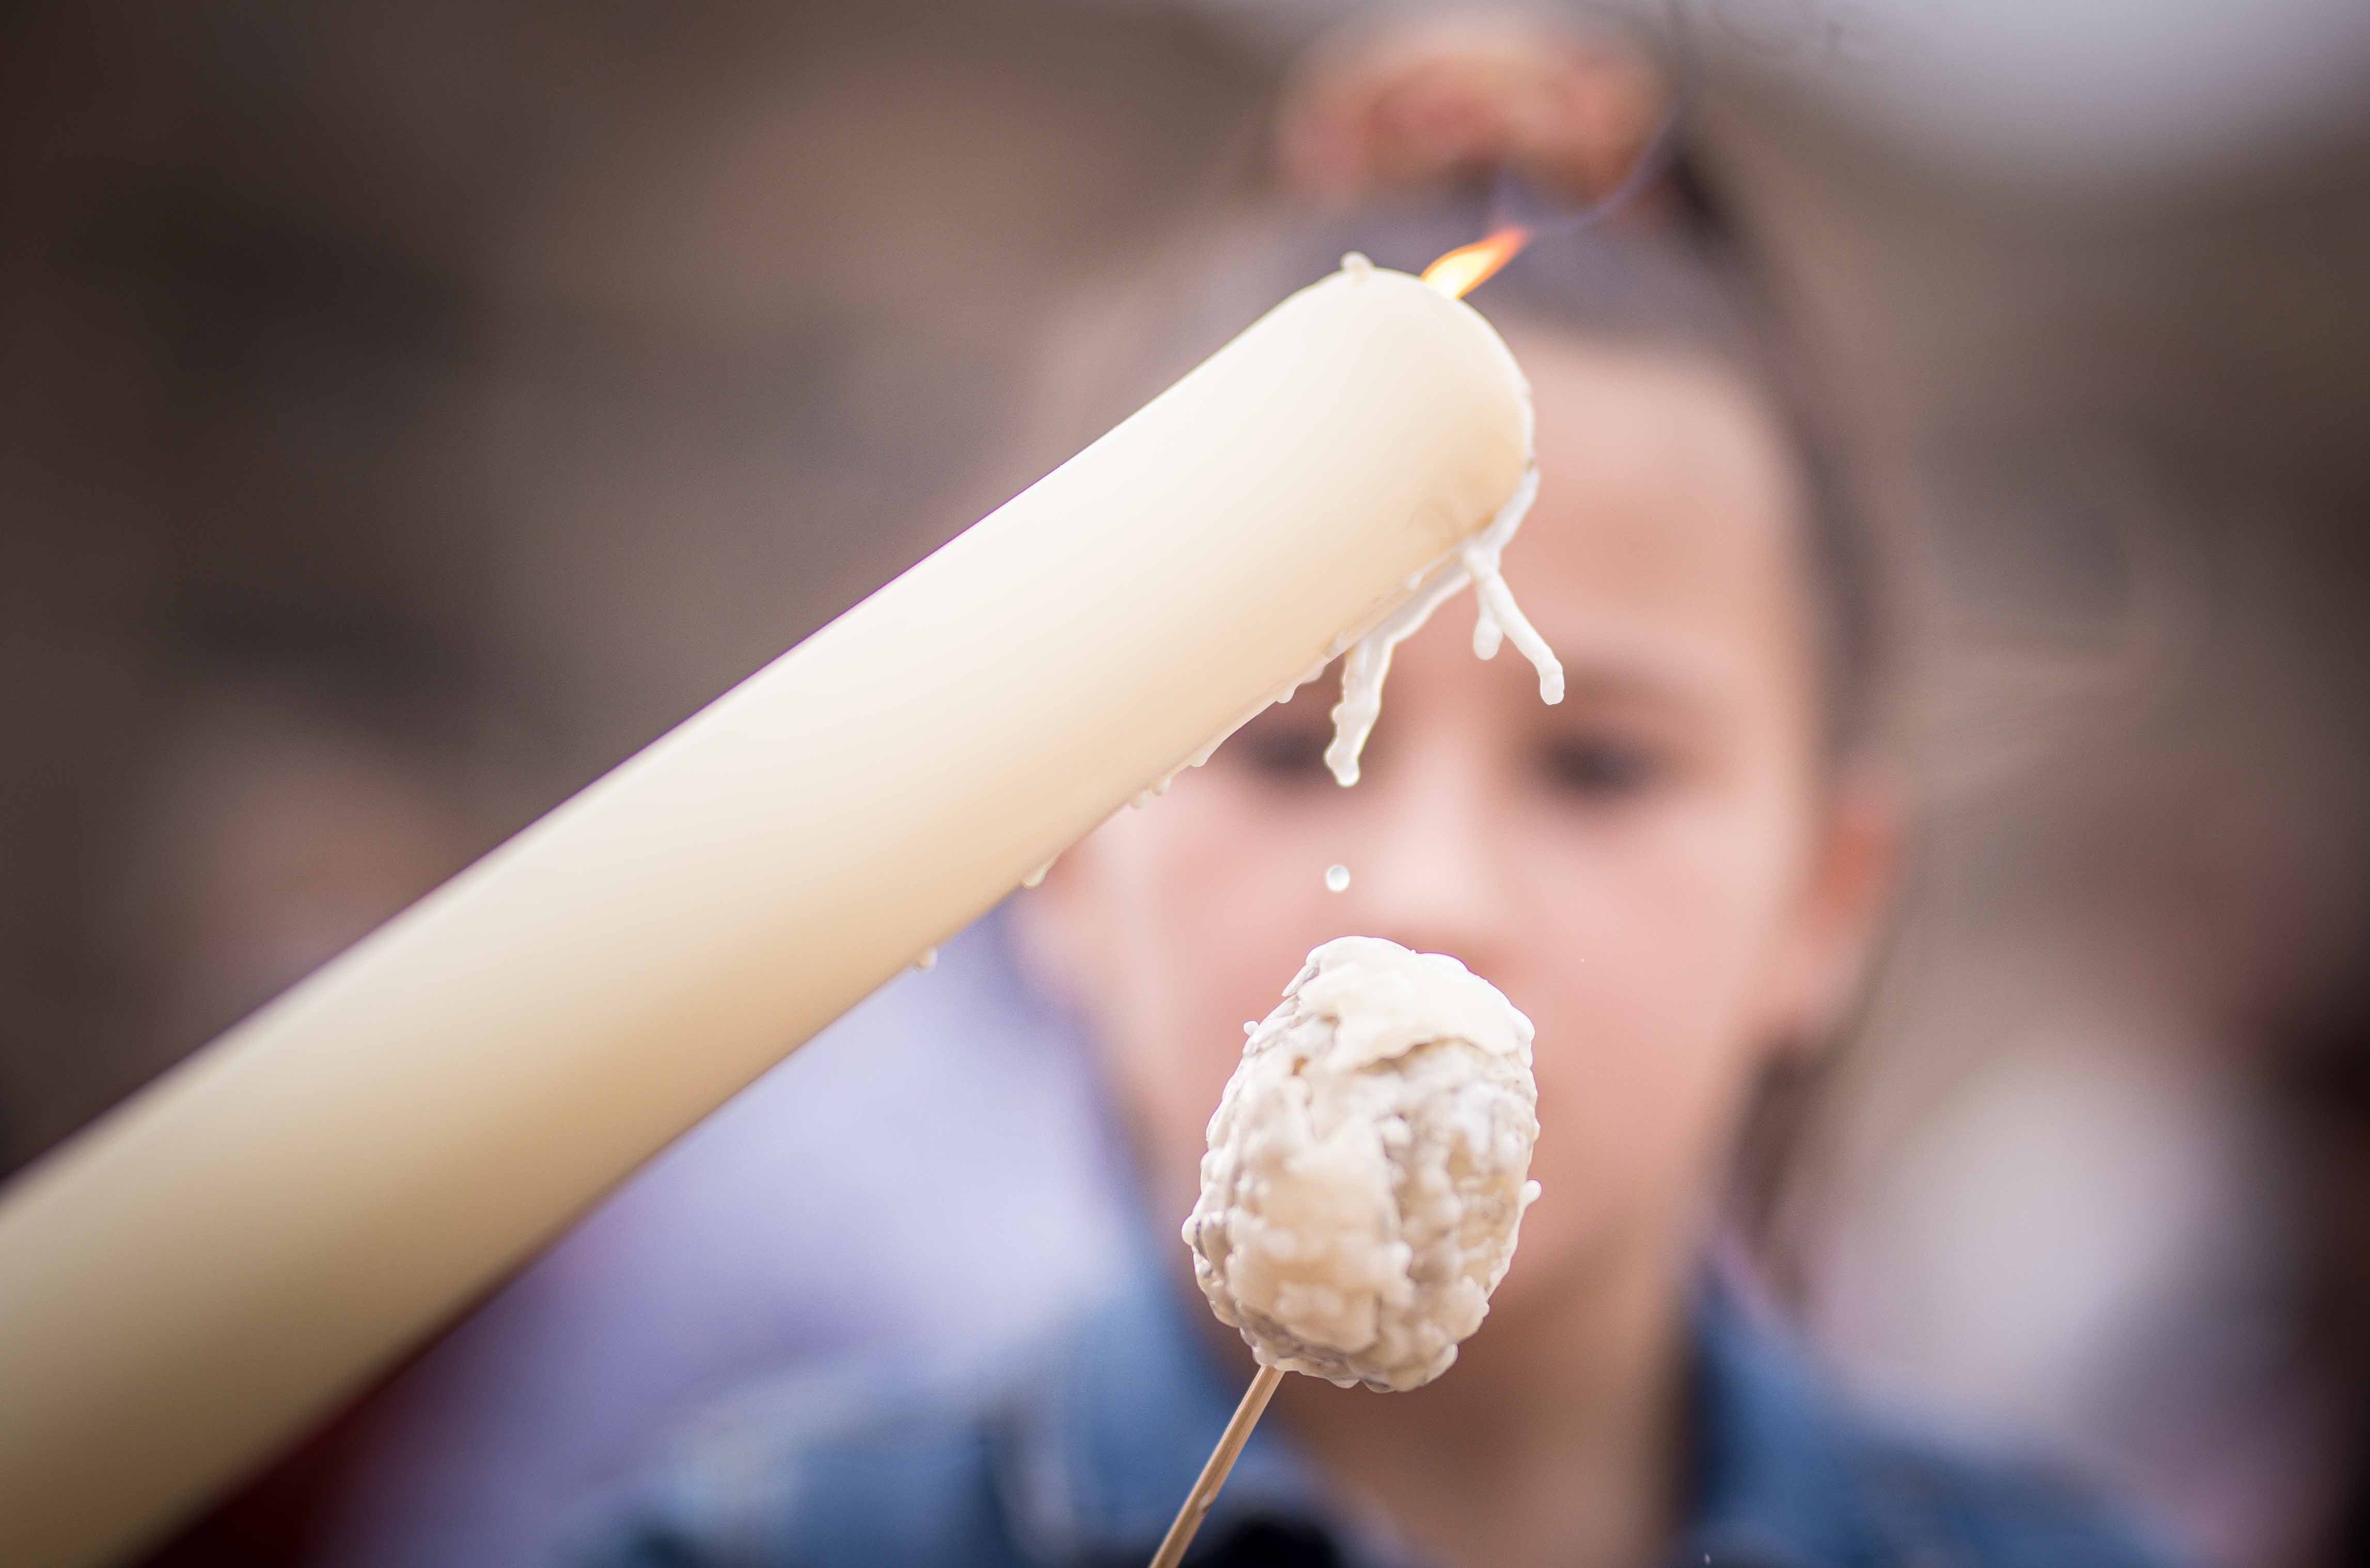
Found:
[(1209, 1123), (1194, 1277), (1268, 1367), (1420, 1388), (1514, 1260), (1536, 1142), (1531, 1021), (1495, 985), (1382, 938), (1325, 943)]

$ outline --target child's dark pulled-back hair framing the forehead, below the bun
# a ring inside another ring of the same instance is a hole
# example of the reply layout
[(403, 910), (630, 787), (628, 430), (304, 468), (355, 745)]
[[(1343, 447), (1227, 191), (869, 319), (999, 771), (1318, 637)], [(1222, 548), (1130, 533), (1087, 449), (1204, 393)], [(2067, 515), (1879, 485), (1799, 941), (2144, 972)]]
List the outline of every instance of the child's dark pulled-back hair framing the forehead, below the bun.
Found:
[[(1830, 753), (1868, 746), (1879, 720), (1884, 616), (1872, 540), (1841, 483), (1827, 419), (1778, 315), (1702, 187), (1671, 178), (1671, 216), (1533, 239), (1474, 294), (1500, 329), (1562, 332), (1602, 343), (1671, 348), (1737, 374), (1768, 407), (1801, 486), (1804, 583), (1820, 640)], [(1280, 223), (1237, 218), (1130, 279), (1085, 315), (1081, 355), (1064, 355), (1059, 436), (1076, 448), (1109, 429), (1232, 334), (1363, 251), (1422, 270), (1488, 227), (1481, 204), (1367, 211)]]

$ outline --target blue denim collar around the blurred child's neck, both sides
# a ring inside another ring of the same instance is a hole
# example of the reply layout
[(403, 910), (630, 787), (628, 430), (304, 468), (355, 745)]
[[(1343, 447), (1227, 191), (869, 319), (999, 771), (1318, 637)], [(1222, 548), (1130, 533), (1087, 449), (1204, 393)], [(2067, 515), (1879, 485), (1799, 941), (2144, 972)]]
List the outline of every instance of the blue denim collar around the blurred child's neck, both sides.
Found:
[[(1043, 1561), (1147, 1559), (1240, 1397), (1145, 1258), (1128, 1289), (1083, 1319), (1007, 1407), (998, 1485)], [(1870, 1537), (1851, 1428), (1785, 1338), (1737, 1293), (1706, 1284), (1692, 1310), (1690, 1506), (1673, 1563), (1841, 1568), (1884, 1561)], [(1204, 1523), (1216, 1540), (1268, 1518), (1327, 1530), (1346, 1561), (1391, 1561), (1301, 1457), (1282, 1424), (1254, 1435)]]

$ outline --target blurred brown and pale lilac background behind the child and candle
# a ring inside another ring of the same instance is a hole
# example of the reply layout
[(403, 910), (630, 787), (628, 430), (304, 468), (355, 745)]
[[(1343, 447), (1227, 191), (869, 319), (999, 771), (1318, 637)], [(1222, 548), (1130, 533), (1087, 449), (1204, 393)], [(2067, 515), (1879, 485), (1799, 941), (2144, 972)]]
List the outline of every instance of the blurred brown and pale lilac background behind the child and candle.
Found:
[[(1903, 578), (1785, 1291), (2211, 1563), (2370, 1561), (2370, 12), (1538, 9), (1690, 62)], [(1081, 301), (1370, 12), (9, 7), (0, 1172), (1066, 455)], [(538, 1561), (756, 1367), (1026, 1329), (1109, 1184), (988, 921), (159, 1561)]]

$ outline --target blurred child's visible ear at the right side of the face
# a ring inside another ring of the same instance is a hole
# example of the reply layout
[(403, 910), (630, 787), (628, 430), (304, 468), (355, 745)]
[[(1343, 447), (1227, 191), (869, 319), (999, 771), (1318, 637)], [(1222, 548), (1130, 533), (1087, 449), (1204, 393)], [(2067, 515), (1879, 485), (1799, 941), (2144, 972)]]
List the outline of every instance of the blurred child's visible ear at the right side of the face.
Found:
[(1905, 782), (1894, 767), (1839, 765), (1778, 978), (1775, 1035), (1794, 1049), (1827, 1040), (1860, 992), (1901, 876), (1905, 822)]

